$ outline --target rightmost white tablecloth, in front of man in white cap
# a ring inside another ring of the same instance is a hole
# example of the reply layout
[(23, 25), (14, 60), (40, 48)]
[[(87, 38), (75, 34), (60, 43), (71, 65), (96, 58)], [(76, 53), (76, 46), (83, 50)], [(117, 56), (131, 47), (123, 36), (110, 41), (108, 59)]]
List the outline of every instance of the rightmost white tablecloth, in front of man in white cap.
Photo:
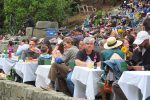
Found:
[(118, 84), (128, 100), (139, 100), (139, 89), (145, 100), (150, 96), (150, 71), (125, 71)]

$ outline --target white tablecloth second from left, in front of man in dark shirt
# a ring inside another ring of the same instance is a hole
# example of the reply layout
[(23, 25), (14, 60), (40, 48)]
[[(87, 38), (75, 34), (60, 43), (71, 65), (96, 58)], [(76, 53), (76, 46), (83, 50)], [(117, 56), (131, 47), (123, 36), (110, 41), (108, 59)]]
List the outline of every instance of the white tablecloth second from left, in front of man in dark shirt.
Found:
[(38, 67), (38, 62), (17, 62), (15, 65), (16, 73), (23, 78), (23, 82), (35, 81), (35, 71)]

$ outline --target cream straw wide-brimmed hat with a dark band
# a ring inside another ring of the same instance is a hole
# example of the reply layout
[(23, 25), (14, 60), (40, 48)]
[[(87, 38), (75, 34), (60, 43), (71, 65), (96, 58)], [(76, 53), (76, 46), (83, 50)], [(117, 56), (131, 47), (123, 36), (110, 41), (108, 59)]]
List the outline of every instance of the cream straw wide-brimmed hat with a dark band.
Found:
[(115, 37), (109, 37), (106, 43), (104, 44), (104, 48), (113, 49), (113, 48), (119, 47), (121, 44), (122, 44), (122, 41), (116, 40)]

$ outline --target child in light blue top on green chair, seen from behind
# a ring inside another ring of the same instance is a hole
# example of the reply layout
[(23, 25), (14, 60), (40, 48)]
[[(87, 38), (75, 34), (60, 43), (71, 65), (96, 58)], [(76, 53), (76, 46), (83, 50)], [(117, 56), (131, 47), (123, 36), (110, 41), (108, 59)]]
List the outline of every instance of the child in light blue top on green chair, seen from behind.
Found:
[(46, 45), (41, 46), (41, 54), (38, 58), (38, 65), (50, 65), (51, 55), (48, 54), (48, 47)]

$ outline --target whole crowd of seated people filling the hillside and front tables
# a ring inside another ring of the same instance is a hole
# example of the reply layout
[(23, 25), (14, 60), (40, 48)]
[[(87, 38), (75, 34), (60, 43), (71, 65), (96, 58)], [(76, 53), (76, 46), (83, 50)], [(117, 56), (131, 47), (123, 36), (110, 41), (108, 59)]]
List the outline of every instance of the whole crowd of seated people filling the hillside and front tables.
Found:
[[(124, 61), (129, 66), (126, 70), (150, 70), (150, 59), (147, 59), (150, 56), (150, 1), (124, 1), (119, 11), (115, 15), (109, 13), (103, 16), (99, 25), (94, 25), (97, 16), (92, 15), (84, 20), (81, 27), (68, 34), (58, 32), (54, 37), (57, 40), (54, 46), (47, 38), (24, 39), (16, 55), (21, 56), (23, 61), (38, 59), (39, 65), (51, 64), (49, 87), (41, 88), (58, 90), (70, 96), (74, 92), (71, 81), (74, 66), (89, 66), (87, 59), (90, 59), (93, 66), (104, 70), (99, 78), (101, 82), (105, 83), (108, 75), (115, 75), (114, 79), (110, 79), (114, 100), (127, 100), (117, 83), (122, 71), (115, 73), (116, 66), (108, 67), (105, 61)], [(12, 46), (10, 41), (8, 49), (14, 52)], [(59, 89), (56, 89), (56, 81)], [(106, 100), (103, 86), (100, 92), (102, 99)]]

